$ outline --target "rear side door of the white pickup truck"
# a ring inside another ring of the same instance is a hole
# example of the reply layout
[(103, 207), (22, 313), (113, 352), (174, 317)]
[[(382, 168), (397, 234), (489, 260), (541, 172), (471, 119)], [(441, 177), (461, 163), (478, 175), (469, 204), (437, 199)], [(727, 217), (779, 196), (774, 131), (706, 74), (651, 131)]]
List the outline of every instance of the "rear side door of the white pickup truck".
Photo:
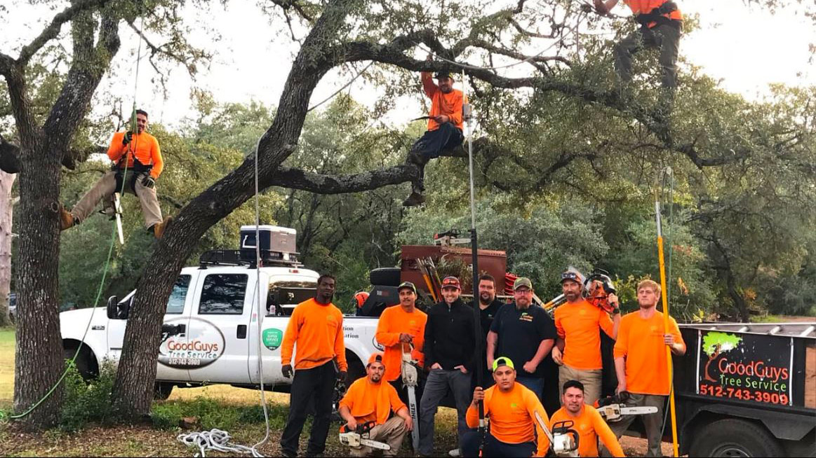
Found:
[(203, 271), (188, 332), (193, 381), (246, 383), (255, 275)]

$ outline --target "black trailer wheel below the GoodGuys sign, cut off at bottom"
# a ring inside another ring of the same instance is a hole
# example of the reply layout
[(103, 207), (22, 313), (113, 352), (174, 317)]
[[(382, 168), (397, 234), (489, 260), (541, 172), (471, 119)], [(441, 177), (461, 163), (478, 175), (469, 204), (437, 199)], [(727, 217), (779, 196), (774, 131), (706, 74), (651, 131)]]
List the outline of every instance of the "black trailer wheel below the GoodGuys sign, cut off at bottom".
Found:
[(726, 418), (698, 429), (689, 456), (784, 456), (768, 430), (750, 421)]

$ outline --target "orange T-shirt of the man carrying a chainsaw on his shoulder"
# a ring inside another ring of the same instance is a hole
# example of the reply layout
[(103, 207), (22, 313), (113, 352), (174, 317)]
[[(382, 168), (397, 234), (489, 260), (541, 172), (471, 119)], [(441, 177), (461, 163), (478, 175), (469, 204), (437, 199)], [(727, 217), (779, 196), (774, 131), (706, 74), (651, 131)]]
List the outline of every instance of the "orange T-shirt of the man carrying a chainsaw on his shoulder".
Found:
[(564, 339), (564, 364), (582, 371), (602, 369), (598, 328), (612, 337), (614, 324), (610, 315), (582, 299), (558, 306), (555, 318), (558, 337)]

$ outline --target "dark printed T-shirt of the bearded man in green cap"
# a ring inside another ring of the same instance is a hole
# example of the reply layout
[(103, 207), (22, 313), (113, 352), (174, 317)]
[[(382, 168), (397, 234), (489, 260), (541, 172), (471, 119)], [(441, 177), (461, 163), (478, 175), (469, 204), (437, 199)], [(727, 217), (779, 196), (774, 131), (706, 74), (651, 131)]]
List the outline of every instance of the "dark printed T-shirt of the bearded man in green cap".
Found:
[(544, 377), (543, 360), (534, 373), (526, 372), (523, 367), (533, 359), (541, 341), (557, 337), (556, 325), (543, 308), (530, 305), (526, 310), (518, 310), (515, 303), (503, 306), (493, 319), (490, 331), (499, 334), (495, 357), (511, 359), (517, 377)]

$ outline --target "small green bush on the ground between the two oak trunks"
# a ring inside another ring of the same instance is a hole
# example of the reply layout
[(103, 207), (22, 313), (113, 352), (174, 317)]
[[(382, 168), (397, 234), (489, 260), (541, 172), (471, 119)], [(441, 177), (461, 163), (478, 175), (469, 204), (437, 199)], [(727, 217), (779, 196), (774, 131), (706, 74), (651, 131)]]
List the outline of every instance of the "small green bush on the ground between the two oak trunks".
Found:
[(105, 362), (99, 377), (86, 383), (74, 363), (66, 361), (68, 372), (64, 379), (64, 400), (60, 412), (60, 429), (77, 431), (91, 423), (109, 424), (116, 419), (111, 399), (116, 368)]

